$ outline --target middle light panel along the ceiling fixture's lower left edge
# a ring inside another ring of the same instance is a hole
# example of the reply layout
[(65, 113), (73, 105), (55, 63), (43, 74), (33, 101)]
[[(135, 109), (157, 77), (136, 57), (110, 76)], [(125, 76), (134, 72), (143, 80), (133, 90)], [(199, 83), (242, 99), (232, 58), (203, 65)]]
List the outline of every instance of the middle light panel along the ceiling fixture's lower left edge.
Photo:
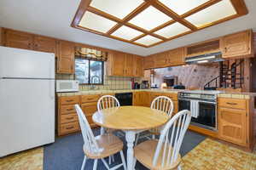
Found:
[(132, 38), (142, 35), (143, 32), (134, 30), (128, 26), (121, 26), (117, 31), (114, 31), (111, 35), (114, 37), (120, 37), (125, 40), (131, 40)]

